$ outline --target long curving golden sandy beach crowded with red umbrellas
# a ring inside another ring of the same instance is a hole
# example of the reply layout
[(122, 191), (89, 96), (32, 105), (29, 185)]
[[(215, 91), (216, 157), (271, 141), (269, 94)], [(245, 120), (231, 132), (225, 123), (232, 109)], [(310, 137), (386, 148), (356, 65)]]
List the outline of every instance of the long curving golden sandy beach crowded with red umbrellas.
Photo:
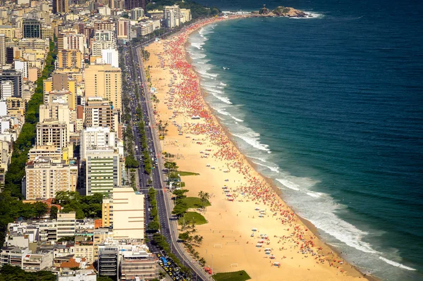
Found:
[(286, 206), (205, 103), (185, 44), (192, 32), (220, 20), (226, 19), (205, 20), (145, 48), (159, 99), (156, 120), (168, 123), (161, 149), (176, 155), (179, 170), (200, 173), (182, 178), (188, 196), (211, 194), (212, 206), (202, 213), (208, 223), (197, 226), (200, 256), (214, 273), (245, 270), (252, 280), (363, 280)]

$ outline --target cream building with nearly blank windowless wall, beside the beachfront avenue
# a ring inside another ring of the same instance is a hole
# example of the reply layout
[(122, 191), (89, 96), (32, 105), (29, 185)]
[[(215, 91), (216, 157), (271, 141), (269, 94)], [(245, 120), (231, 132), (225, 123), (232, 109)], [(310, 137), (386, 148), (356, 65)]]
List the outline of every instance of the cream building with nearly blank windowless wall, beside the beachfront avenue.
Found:
[(142, 239), (144, 231), (144, 194), (132, 187), (113, 189), (113, 236), (115, 239)]

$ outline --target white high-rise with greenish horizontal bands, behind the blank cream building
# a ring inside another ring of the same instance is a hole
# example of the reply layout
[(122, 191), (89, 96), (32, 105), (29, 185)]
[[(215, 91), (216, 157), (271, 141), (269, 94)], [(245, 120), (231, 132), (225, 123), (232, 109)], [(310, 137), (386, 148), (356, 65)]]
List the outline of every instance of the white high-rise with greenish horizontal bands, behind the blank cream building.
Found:
[(87, 150), (85, 157), (87, 195), (112, 192), (121, 185), (121, 163), (114, 149)]

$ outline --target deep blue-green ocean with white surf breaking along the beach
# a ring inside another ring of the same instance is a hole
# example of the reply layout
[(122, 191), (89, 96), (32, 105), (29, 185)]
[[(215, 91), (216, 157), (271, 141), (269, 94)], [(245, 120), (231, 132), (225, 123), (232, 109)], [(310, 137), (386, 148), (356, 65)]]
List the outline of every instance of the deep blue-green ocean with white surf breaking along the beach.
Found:
[(348, 261), (382, 280), (423, 280), (422, 2), (266, 1), (278, 5), (314, 16), (230, 20), (190, 37), (207, 102)]

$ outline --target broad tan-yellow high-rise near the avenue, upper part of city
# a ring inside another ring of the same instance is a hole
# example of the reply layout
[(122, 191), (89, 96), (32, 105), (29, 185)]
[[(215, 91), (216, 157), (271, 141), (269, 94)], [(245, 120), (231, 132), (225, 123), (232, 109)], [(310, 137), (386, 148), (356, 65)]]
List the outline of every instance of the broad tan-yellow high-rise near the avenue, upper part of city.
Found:
[(89, 65), (85, 68), (85, 97), (98, 96), (111, 102), (114, 109), (122, 108), (121, 68), (111, 65)]

